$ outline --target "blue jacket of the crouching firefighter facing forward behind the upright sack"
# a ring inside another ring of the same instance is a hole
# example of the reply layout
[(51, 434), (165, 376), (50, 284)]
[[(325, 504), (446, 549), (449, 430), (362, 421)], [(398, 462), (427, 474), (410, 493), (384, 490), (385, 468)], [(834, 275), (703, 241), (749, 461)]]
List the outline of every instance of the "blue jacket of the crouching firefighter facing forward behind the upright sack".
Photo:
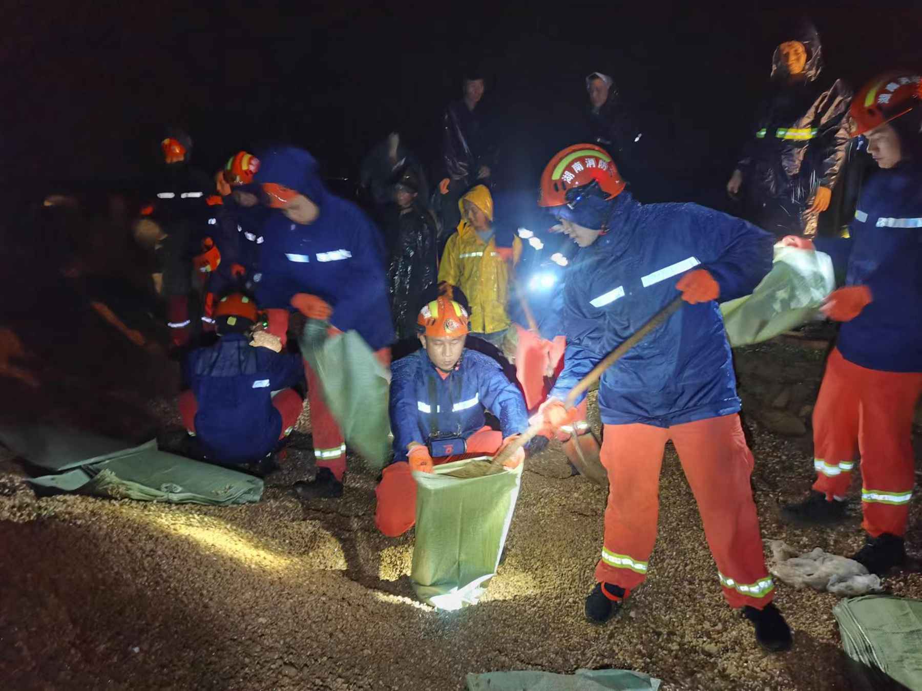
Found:
[(407, 460), (410, 442), (426, 444), (433, 430), (465, 439), (485, 424), (484, 410), (500, 421), (503, 438), (528, 428), (525, 399), (490, 356), (467, 348), (444, 379), (424, 349), (391, 365), (394, 460)]

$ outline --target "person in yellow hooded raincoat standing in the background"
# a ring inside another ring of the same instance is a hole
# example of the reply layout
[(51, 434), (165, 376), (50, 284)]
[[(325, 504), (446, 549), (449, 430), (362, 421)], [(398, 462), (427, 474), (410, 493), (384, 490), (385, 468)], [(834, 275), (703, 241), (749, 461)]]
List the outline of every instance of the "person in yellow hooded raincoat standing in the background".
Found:
[(493, 197), (485, 185), (472, 187), (458, 201), (461, 221), (442, 255), (439, 285), (451, 295), (459, 288), (470, 305), (470, 335), (502, 350), (511, 321), (506, 312), (512, 267), (522, 256), (522, 241), (497, 247), (493, 230)]

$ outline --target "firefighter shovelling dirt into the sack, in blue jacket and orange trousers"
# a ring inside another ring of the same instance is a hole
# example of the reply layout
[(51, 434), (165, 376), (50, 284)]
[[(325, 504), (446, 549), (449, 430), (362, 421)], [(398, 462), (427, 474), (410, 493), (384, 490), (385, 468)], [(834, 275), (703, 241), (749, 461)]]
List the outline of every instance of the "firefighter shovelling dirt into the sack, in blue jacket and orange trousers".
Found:
[[(604, 149), (563, 149), (541, 176), (539, 205), (580, 246), (564, 288), (563, 371), (541, 407), (551, 428), (572, 421), (569, 391), (681, 292), (686, 303), (599, 383), (609, 473), (605, 542), (585, 602), (602, 623), (644, 582), (656, 541), (659, 470), (671, 439), (701, 512), (724, 597), (742, 607), (765, 649), (790, 646), (771, 602), (752, 454), (739, 423), (730, 346), (715, 302), (752, 291), (772, 266), (772, 238), (695, 204), (640, 204)], [(678, 283), (676, 282), (678, 278)]]

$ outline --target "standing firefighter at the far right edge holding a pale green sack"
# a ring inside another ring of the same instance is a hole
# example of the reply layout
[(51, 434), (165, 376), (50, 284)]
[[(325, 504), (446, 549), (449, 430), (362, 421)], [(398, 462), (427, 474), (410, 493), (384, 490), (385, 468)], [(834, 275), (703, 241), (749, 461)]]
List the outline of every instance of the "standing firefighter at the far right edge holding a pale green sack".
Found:
[(868, 538), (852, 558), (882, 575), (906, 560), (903, 535), (916, 484), (912, 426), (922, 395), (919, 73), (873, 79), (852, 101), (851, 115), (852, 136), (868, 139), (880, 170), (861, 190), (849, 237), (784, 240), (832, 256), (845, 286), (822, 307), (842, 327), (813, 411), (817, 479), (810, 496), (785, 506), (782, 515), (808, 523), (845, 518), (845, 494), (860, 456)]

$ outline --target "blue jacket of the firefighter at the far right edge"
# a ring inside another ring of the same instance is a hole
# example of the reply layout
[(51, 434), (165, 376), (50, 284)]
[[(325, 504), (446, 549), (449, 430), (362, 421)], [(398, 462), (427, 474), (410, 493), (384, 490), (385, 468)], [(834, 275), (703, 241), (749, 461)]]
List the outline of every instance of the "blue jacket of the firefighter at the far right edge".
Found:
[(871, 174), (849, 235), (814, 240), (845, 285), (867, 285), (873, 298), (840, 328), (839, 351), (869, 369), (922, 372), (922, 165)]

